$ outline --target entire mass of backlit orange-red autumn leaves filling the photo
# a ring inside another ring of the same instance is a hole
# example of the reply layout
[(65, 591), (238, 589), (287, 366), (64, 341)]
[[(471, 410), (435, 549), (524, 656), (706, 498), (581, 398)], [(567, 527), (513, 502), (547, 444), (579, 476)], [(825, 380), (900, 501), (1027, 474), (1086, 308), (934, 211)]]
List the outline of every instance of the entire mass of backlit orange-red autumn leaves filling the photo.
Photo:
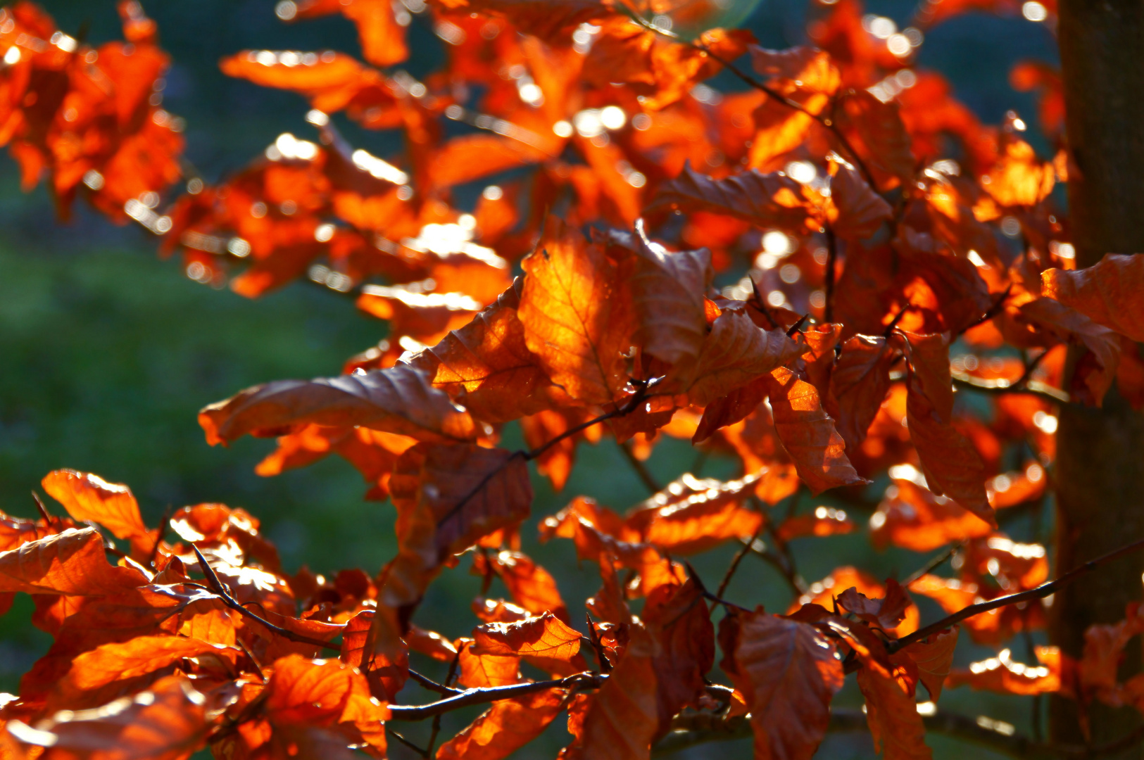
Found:
[[(970, 6), (925, 3), (919, 24)], [(388, 320), (343, 375), (247, 389), (200, 423), (212, 443), (277, 437), (262, 474), (345, 457), (391, 499), (399, 547), (376, 576), (291, 576), (240, 510), (184, 507), (148, 529), (126, 487), (51, 473), (71, 519), (5, 518), (0, 534), (0, 591), (32, 594), (56, 639), (3, 706), (6, 753), (383, 757), (386, 728), (432, 718), (430, 746), (410, 743), (430, 757), (443, 713), (491, 704), (436, 757), (507, 757), (564, 713), (566, 758), (646, 758), (673, 731), (736, 721), (758, 758), (810, 757), (856, 673), (885, 757), (927, 758), (919, 683), (934, 701), (969, 683), (1144, 702), (1138, 679), (1115, 677), (1144, 629), (1135, 609), (1093, 629), (1079, 661), (1046, 648), (1039, 666), (1004, 654), (951, 673), (960, 624), (1000, 645), (1042, 626), (1041, 600), (1065, 581), (1046, 583), (1043, 546), (999, 519), (1043, 505), (1056, 405), (1099, 405), (1113, 382), (1144, 402), (1144, 259), (1074, 269), (1052, 199), (1066, 152), (1039, 158), (1015, 114), (983, 126), (939, 74), (915, 72), (916, 27), (881, 34), (837, 0), (815, 8), (818, 47), (773, 51), (744, 31), (686, 41), (646, 21), (689, 9), (287, 0), (287, 21), (352, 19), (388, 73), (332, 51), (224, 59), (305, 96), (319, 139), (284, 134), (219, 185), (192, 178), (162, 215), (178, 146), (150, 136), (175, 126), (144, 97), (165, 63), (153, 24), (122, 3), (132, 42), (96, 51), (27, 3), (3, 11), (0, 134), (30, 182), (49, 171), (62, 203), (82, 184), (180, 249), (194, 279), (253, 297), (305, 277)], [(391, 69), (419, 15), (445, 43), (424, 81)], [(128, 47), (152, 69), (114, 69)], [(705, 83), (721, 72), (749, 89)], [(1042, 126), (1063, 145), (1054, 72), (1024, 64), (1014, 79), (1044, 88)], [(405, 150), (353, 150), (339, 112), (398, 130)], [(955, 403), (955, 387), (980, 397)], [(513, 422), (530, 449), (499, 447)], [(559, 489), (577, 447), (604, 435), (637, 466), (662, 437), (688, 439), (741, 477), (686, 473), (625, 515), (578, 497), (545, 517), (542, 539), (571, 539), (599, 570), (581, 631), (518, 535), (527, 463)], [(872, 541), (942, 553), (903, 583), (837, 568), (808, 585), (791, 542), (855, 525), (825, 506), (797, 514), (800, 490), (861, 506), (885, 472)], [(677, 559), (729, 542), (741, 550), (715, 591)], [(747, 553), (791, 586), (785, 614), (723, 599)], [(418, 627), (427, 589), (463, 555), (510, 599), (476, 600), (471, 635)], [(956, 576), (935, 575), (951, 555)], [(948, 617), (919, 627), (911, 592)], [(339, 659), (317, 659), (324, 648)], [(450, 663), (445, 682), (411, 654)], [(399, 704), (407, 680), (442, 698)]]

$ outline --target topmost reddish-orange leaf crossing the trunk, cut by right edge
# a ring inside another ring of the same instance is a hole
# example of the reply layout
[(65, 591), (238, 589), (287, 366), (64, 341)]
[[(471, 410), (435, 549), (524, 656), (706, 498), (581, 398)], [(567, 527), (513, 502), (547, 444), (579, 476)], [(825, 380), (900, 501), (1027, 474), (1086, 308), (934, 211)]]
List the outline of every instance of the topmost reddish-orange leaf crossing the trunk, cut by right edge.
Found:
[(1139, 293), (1144, 285), (1144, 259), (1135, 255), (1105, 254), (1098, 263), (1080, 270), (1049, 269), (1041, 272), (1042, 294), (1075, 309), (1097, 325), (1137, 343), (1144, 342), (1144, 311)]

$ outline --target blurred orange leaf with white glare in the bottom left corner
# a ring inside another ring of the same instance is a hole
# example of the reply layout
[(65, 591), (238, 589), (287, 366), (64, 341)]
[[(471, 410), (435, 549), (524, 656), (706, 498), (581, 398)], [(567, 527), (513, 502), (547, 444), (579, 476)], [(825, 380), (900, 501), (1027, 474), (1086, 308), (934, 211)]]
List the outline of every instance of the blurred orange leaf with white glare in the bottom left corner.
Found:
[(88, 760), (181, 760), (206, 743), (206, 699), (182, 675), (160, 679), (149, 690), (93, 710), (63, 711), (8, 730), (19, 741), (49, 747), (47, 758)]

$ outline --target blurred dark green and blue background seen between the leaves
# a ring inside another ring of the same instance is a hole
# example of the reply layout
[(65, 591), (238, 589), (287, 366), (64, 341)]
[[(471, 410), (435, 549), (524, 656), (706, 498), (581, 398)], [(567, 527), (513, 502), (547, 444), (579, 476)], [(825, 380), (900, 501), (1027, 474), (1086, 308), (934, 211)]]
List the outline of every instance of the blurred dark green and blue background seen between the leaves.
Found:
[[(119, 39), (112, 0), (46, 0), (43, 7), (61, 29), (87, 41)], [(304, 122), (307, 104), (289, 93), (255, 87), (223, 77), (217, 61), (247, 48), (320, 50), (359, 54), (352, 25), (341, 17), (283, 24), (272, 0), (152, 1), (146, 13), (159, 23), (161, 43), (172, 55), (164, 107), (185, 118), (186, 157), (207, 182), (237, 170), (283, 131), (312, 137)], [(868, 13), (887, 15), (899, 27), (909, 23), (913, 3), (871, 2)], [(801, 0), (764, 0), (745, 24), (771, 48), (805, 41)], [(406, 69), (419, 75), (439, 61), (439, 42), (423, 19), (411, 29), (414, 55)], [(953, 83), (955, 95), (985, 122), (996, 123), (1017, 110), (1035, 123), (1032, 98), (1008, 85), (1014, 63), (1025, 58), (1056, 61), (1048, 30), (1023, 18), (980, 14), (961, 16), (927, 33), (919, 69), (936, 69)], [(723, 80), (720, 80), (722, 83)], [(384, 155), (396, 147), (392, 135), (364, 133), (339, 119), (356, 146)], [(196, 413), (248, 385), (286, 377), (336, 374), (349, 355), (384, 335), (383, 323), (362, 315), (341, 296), (296, 283), (257, 302), (229, 290), (213, 290), (183, 277), (176, 261), (156, 256), (156, 239), (135, 226), (116, 226), (81, 205), (74, 218), (59, 223), (41, 185), (24, 194), (18, 171), (0, 158), (0, 510), (34, 514), (30, 490), (57, 467), (98, 473), (128, 483), (144, 518), (154, 523), (168, 505), (224, 502), (243, 506), (263, 521), (285, 565), (302, 563), (317, 571), (359, 566), (374, 573), (395, 551), (392, 507), (364, 502), (365, 483), (341, 459), (277, 478), (259, 478), (253, 467), (272, 448), (271, 441), (243, 439), (231, 448), (210, 448)], [(506, 446), (519, 441), (507, 431)], [(690, 446), (667, 441), (650, 467), (661, 482), (686, 471), (694, 457)], [(732, 474), (729, 462), (710, 459), (704, 475)], [(626, 510), (648, 494), (614, 445), (581, 447), (580, 462), (563, 494), (535, 479), (534, 514), (543, 517), (572, 496), (597, 497)], [(884, 485), (884, 483), (883, 483)], [(823, 499), (804, 498), (801, 510)], [(58, 509), (58, 507), (57, 507)], [(865, 515), (856, 515), (864, 525)], [(578, 568), (570, 542), (543, 549), (526, 527), (525, 551), (562, 583), (570, 608), (598, 586), (595, 566)], [(800, 547), (796, 546), (796, 551)], [(717, 579), (733, 547), (698, 558), (700, 575)], [(874, 553), (861, 533), (816, 539), (800, 551), (808, 581), (832, 568), (853, 563), (882, 577), (907, 575), (924, 562), (908, 552)], [(728, 595), (742, 603), (764, 603), (782, 611), (785, 586), (766, 566), (746, 560)], [(446, 571), (418, 622), (448, 635), (475, 624), (468, 603), (479, 589), (468, 561)], [(493, 595), (503, 593), (493, 590)], [(923, 601), (923, 618), (938, 615)], [(0, 689), (15, 690), (19, 674), (42, 653), (45, 634), (31, 629), (26, 598), (0, 618)], [(992, 653), (962, 647), (959, 661)], [(1031, 661), (1024, 647), (1015, 656)], [(423, 701), (426, 694), (411, 694)], [(840, 703), (857, 707), (860, 696), (849, 685)], [(1027, 702), (988, 697), (959, 689), (943, 706), (968, 714), (987, 714), (1027, 729)], [(453, 715), (445, 729), (458, 729), (471, 715)], [(455, 723), (451, 726), (450, 723)], [(416, 735), (416, 731), (413, 731)], [(554, 757), (566, 739), (556, 721), (546, 741), (518, 757)], [(939, 737), (930, 743), (942, 757), (960, 757)], [(977, 752), (977, 750), (971, 750)], [(392, 757), (402, 758), (400, 749)], [(709, 745), (690, 757), (749, 757), (749, 741)], [(872, 757), (865, 736), (832, 736), (819, 757)], [(980, 757), (987, 757), (982, 754)]]

